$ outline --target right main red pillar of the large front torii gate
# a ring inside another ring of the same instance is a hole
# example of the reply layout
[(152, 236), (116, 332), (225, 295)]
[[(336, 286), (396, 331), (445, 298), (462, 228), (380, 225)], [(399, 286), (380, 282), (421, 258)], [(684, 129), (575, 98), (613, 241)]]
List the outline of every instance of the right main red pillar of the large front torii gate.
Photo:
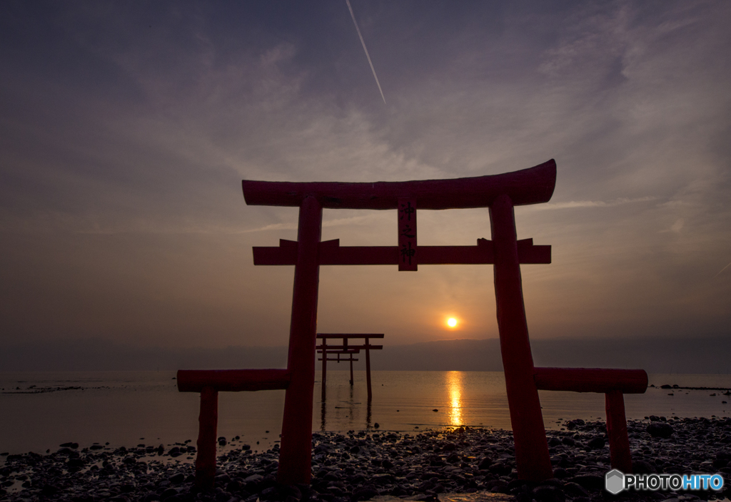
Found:
[(507, 195), (498, 196), (490, 206), (494, 278), (500, 350), (510, 422), (515, 441), (518, 477), (542, 481), (553, 477), (534, 366), (528, 338), (523, 285), (518, 261), (515, 212)]

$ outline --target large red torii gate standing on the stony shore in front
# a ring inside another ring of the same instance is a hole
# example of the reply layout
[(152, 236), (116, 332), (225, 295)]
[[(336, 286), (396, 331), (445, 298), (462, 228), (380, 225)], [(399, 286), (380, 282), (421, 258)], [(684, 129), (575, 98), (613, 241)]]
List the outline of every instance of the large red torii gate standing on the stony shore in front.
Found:
[[(278, 481), (284, 484), (310, 482), (320, 265), (398, 265), (399, 270), (415, 271), (419, 263), (493, 264), (500, 349), (518, 476), (531, 480), (553, 476), (538, 389), (605, 393), (612, 466), (630, 472), (632, 460), (622, 394), (645, 392), (648, 382), (645, 371), (535, 368), (533, 364), (520, 263), (550, 263), (550, 246), (534, 246), (532, 239), (517, 240), (513, 207), (548, 202), (555, 186), (556, 162), (553, 160), (522, 171), (459, 179), (375, 183), (244, 180), (243, 195), (247, 204), (300, 208), (296, 242), (280, 239), (279, 247), (254, 247), (255, 265), (295, 266), (287, 369), (264, 370), (271, 373), (265, 374), (263, 379), (260, 374), (246, 374), (253, 370), (239, 370), (242, 373), (237, 375), (236, 385), (224, 378), (225, 372), (211, 376), (213, 372), (188, 371), (186, 373), (191, 374), (190, 379), (196, 383), (185, 389), (181, 386), (181, 372), (178, 372), (179, 390), (201, 393), (199, 448), (205, 433), (204, 415), (208, 417), (206, 424), (211, 422), (212, 416), (210, 412), (204, 413), (204, 398), (210, 402), (218, 390), (286, 388)], [(488, 207), (492, 240), (477, 239), (476, 246), (417, 247), (417, 207)], [(341, 247), (338, 239), (320, 242), (323, 208), (398, 209), (398, 246)], [(193, 374), (202, 377), (199, 379)], [(215, 436), (215, 414), (212, 422)], [(205, 465), (210, 474), (211, 466)], [(201, 474), (200, 479), (207, 479), (207, 476)]]

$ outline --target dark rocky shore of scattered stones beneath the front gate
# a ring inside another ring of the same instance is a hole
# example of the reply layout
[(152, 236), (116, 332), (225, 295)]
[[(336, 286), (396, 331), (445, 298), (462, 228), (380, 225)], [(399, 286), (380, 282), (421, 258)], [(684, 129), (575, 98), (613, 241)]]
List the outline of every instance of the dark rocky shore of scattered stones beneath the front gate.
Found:
[[(276, 484), (278, 446), (252, 452), (228, 446), (218, 460), (216, 487), (197, 492), (189, 459), (194, 448), (139, 445), (78, 449), (64, 444), (46, 455), (8, 455), (0, 467), (2, 501), (216, 501), (355, 502), (409, 498), (421, 501), (496, 498), (517, 502), (595, 502), (605, 499), (684, 502), (731, 497), (731, 419), (684, 418), (628, 422), (635, 472), (716, 474), (720, 492), (604, 490), (610, 470), (605, 423), (572, 420), (549, 430), (555, 478), (539, 484), (515, 474), (512, 433), (456, 428), (422, 433), (368, 430), (315, 433), (309, 486)], [(221, 441), (225, 444), (225, 439)]]

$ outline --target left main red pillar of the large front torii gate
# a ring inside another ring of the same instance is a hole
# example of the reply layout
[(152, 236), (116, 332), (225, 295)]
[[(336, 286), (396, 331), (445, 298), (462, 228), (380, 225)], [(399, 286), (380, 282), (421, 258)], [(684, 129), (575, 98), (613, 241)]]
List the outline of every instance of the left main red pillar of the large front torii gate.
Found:
[[(322, 206), (316, 198), (304, 198), (300, 205), (297, 232), (295, 287), (292, 320), (289, 324), (287, 369), (292, 380), (284, 398), (281, 425), (279, 471), (281, 484), (309, 484), (312, 460), (312, 395), (314, 392), (317, 344), (317, 290), (319, 285), (319, 241)], [(305, 356), (306, 355), (306, 356)]]

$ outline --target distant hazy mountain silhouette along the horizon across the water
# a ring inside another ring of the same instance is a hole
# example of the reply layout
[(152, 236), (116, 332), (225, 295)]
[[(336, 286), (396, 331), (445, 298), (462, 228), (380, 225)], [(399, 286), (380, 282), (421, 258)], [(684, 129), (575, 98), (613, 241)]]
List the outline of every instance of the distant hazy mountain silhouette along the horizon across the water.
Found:
[[(498, 339), (439, 340), (389, 345), (373, 352), (374, 370), (502, 371)], [(649, 373), (729, 374), (731, 336), (704, 339), (532, 340), (536, 366), (643, 368)], [(363, 361), (355, 363), (364, 369)], [(167, 349), (102, 340), (26, 343), (0, 350), (0, 371), (175, 370), (284, 368), (287, 347)], [(318, 368), (319, 368), (319, 362)], [(346, 369), (330, 363), (329, 368)]]

